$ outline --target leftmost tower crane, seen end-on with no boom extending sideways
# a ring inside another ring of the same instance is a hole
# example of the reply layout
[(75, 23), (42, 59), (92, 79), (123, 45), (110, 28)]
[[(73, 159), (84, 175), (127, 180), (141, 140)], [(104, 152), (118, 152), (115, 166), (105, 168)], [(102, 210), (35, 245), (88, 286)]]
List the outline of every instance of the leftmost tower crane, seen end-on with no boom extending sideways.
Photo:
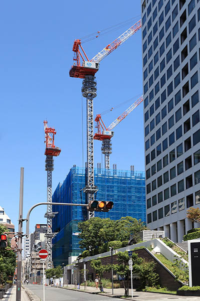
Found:
[(44, 133), (45, 133), (45, 170), (47, 171), (47, 212), (44, 217), (47, 218), (47, 233), (45, 234), (47, 238), (47, 268), (52, 268), (52, 238), (54, 233), (52, 233), (52, 218), (55, 216), (55, 212), (52, 212), (52, 171), (53, 171), (53, 157), (59, 156), (61, 149), (54, 145), (54, 135), (56, 131), (52, 127), (47, 126), (47, 121), (44, 120)]

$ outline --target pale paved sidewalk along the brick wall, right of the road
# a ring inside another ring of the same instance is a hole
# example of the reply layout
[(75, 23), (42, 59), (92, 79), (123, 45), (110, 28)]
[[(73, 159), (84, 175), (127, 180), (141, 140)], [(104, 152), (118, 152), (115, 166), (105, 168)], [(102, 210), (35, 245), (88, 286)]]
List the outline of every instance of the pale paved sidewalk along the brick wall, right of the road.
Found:
[[(92, 286), (87, 286), (86, 290), (84, 290), (84, 286), (80, 285), (80, 289), (74, 287), (74, 284), (68, 284), (68, 287), (62, 287), (64, 289), (71, 289), (77, 290), (87, 293), (98, 293), (100, 295), (114, 297), (114, 298), (123, 298), (124, 295), (124, 288), (114, 288), (113, 295), (111, 288), (103, 288), (104, 293), (100, 293), (99, 289), (96, 289)], [(183, 301), (199, 301), (199, 297), (193, 296), (179, 296), (174, 294), (166, 294), (166, 293), (156, 293), (156, 292), (144, 292), (144, 291), (135, 291), (133, 289), (133, 298), (131, 298), (131, 288), (129, 288), (129, 297), (124, 298), (125, 300), (132, 300), (132, 301), (165, 301), (169, 299), (176, 299), (176, 300), (183, 300)]]

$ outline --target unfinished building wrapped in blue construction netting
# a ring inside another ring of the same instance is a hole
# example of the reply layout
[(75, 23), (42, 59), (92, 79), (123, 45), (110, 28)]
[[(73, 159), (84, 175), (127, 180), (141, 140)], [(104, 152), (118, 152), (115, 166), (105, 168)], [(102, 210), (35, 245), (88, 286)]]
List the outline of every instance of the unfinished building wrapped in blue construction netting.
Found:
[[(109, 212), (95, 212), (95, 217), (112, 220), (131, 216), (146, 221), (145, 210), (145, 176), (144, 172), (130, 170), (101, 169), (100, 164), (94, 169), (94, 184), (98, 187), (96, 200), (112, 201)], [(85, 204), (85, 169), (73, 166), (62, 184), (55, 189), (52, 202)], [(52, 232), (58, 234), (53, 238), (53, 266), (68, 264), (68, 257), (78, 256), (79, 238), (77, 224), (87, 219), (87, 210), (76, 206), (52, 206), (58, 212), (52, 219)]]

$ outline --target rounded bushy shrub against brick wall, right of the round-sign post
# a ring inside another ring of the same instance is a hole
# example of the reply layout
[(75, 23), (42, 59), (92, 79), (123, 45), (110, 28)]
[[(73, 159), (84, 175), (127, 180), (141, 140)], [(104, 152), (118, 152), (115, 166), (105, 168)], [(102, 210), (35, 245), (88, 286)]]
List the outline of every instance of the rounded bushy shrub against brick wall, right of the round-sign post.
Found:
[(155, 286), (159, 280), (159, 276), (155, 273), (155, 263), (153, 261), (142, 258), (138, 274), (140, 278), (141, 288), (145, 286)]

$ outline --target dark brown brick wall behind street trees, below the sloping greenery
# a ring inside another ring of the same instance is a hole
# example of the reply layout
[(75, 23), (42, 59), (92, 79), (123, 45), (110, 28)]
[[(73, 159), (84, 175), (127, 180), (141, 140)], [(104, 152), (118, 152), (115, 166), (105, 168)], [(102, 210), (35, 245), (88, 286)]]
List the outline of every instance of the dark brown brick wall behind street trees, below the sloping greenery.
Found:
[[(157, 260), (146, 250), (140, 249), (135, 250), (135, 253), (138, 254), (139, 257), (146, 258), (155, 262), (155, 272), (159, 275), (159, 285), (165, 286), (170, 290), (177, 290), (182, 284), (174, 279), (174, 276), (169, 273)], [(86, 259), (86, 258), (85, 258)], [(111, 256), (99, 258), (102, 264), (111, 264)], [(117, 254), (113, 255), (113, 264), (117, 264)], [(79, 268), (83, 269), (84, 265), (83, 262), (79, 263)], [(86, 269), (88, 270), (88, 276), (90, 276), (91, 280), (94, 280), (96, 274), (94, 270), (90, 266), (90, 261), (86, 261)], [(104, 278), (111, 279), (111, 272), (106, 272), (103, 275)], [(80, 276), (80, 283), (83, 282), (83, 277)], [(114, 282), (120, 283), (120, 287), (123, 287), (122, 281), (114, 280)], [(130, 285), (129, 285), (130, 286)], [(139, 280), (133, 281), (133, 287), (137, 288), (139, 286)]]

